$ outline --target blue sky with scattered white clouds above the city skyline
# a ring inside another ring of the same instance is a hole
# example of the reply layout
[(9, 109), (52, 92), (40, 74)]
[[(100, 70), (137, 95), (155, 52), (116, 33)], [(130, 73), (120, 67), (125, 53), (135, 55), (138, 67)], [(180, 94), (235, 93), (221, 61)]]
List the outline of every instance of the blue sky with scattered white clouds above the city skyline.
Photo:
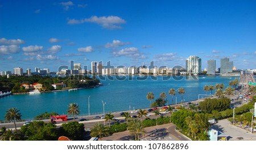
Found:
[(256, 68), (256, 1), (2, 1), (0, 71), (69, 60), (184, 66), (197, 55)]

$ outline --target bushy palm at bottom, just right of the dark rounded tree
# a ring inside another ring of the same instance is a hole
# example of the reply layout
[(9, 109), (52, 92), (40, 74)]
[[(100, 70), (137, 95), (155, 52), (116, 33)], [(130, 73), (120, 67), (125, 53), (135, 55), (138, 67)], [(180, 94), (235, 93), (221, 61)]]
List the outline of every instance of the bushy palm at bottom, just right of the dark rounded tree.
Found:
[(99, 137), (100, 140), (102, 137), (109, 136), (109, 128), (106, 128), (103, 124), (97, 123), (93, 126), (92, 130), (90, 130), (91, 137)]

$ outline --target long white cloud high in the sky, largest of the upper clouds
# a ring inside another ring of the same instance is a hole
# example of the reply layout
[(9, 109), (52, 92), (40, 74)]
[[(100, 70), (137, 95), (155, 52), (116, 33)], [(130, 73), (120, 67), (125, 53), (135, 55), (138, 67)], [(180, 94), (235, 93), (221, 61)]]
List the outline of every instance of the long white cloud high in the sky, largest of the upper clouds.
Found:
[(101, 17), (91, 16), (90, 18), (86, 18), (86, 19), (80, 19), (80, 20), (69, 19), (68, 20), (68, 24), (81, 24), (85, 22), (96, 23), (106, 29), (120, 29), (122, 27), (119, 25), (126, 23), (124, 19), (119, 18), (118, 16), (101, 16)]

